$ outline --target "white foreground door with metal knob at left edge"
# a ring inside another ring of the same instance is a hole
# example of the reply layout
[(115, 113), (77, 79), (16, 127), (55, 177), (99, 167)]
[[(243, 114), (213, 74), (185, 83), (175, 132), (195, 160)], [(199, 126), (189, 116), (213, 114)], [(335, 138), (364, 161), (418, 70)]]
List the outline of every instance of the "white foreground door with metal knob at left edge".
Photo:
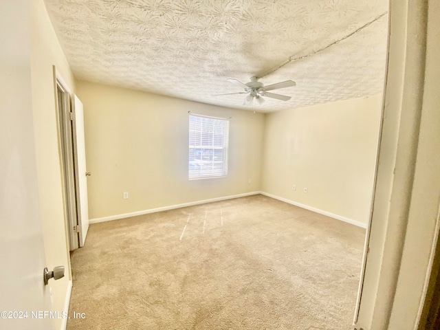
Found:
[(0, 1), (0, 329), (43, 330), (54, 329), (52, 320), (31, 314), (51, 305), (43, 283), (28, 10), (30, 1)]

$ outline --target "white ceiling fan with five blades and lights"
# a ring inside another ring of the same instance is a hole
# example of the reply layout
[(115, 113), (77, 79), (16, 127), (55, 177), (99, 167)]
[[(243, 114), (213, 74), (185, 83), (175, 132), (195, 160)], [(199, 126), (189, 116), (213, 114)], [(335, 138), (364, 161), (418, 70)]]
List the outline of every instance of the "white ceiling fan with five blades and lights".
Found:
[(267, 86), (263, 85), (263, 83), (260, 83), (258, 81), (258, 78), (256, 78), (256, 77), (251, 77), (250, 82), (246, 83), (246, 84), (243, 84), (243, 83), (241, 83), (241, 81), (236, 80), (236, 79), (232, 79), (232, 78), (228, 78), (226, 80), (228, 80), (230, 83), (232, 83), (236, 86), (243, 87), (245, 89), (245, 91), (239, 91), (237, 93), (217, 94), (215, 96), (232, 95), (232, 94), (248, 94), (248, 96), (245, 97), (244, 104), (250, 104), (250, 102), (252, 102), (252, 100), (256, 100), (256, 102), (261, 104), (264, 102), (263, 96), (265, 96), (266, 98), (276, 98), (276, 100), (288, 101), (291, 99), (290, 96), (268, 93), (267, 91), (272, 91), (274, 89), (280, 89), (280, 88), (285, 88), (285, 87), (296, 86), (296, 83), (292, 80), (286, 80), (281, 83), (276, 83), (276, 84), (267, 85)]

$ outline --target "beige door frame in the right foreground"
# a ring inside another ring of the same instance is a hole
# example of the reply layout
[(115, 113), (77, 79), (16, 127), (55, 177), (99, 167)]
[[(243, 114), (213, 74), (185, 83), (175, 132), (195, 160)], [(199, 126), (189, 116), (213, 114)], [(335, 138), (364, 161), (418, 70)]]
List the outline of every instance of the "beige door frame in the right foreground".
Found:
[(355, 329), (418, 329), (439, 230), (440, 14), (391, 0), (384, 116)]

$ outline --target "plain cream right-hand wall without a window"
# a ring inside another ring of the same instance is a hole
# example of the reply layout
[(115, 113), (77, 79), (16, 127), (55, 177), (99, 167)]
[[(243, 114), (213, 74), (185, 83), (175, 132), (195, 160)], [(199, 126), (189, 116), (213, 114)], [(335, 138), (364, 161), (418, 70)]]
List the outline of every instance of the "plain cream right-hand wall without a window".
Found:
[(366, 224), (381, 108), (372, 96), (268, 114), (261, 190)]

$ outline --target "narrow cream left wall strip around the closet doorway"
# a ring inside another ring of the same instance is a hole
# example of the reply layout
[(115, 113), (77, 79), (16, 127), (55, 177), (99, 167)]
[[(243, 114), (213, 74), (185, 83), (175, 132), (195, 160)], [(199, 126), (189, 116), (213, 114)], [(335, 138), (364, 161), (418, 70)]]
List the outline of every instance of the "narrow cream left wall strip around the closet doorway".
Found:
[[(62, 311), (71, 274), (65, 230), (52, 65), (56, 65), (67, 85), (74, 91), (72, 72), (58, 43), (43, 0), (34, 0), (31, 76), (37, 177), (47, 267), (52, 269), (64, 265), (66, 269), (64, 278), (50, 281), (49, 284), (52, 290), (53, 309)], [(56, 329), (61, 329), (63, 320), (54, 319), (54, 322)]]

